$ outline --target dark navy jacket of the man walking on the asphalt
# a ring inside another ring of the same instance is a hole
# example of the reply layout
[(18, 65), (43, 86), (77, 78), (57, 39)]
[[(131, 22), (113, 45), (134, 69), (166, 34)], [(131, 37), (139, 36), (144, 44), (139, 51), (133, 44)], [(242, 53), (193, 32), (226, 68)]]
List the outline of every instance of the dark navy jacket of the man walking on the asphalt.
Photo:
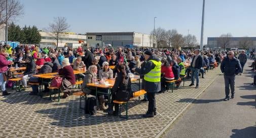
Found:
[(235, 57), (231, 60), (229, 58), (224, 58), (221, 63), (221, 70), (226, 76), (232, 76), (242, 72), (241, 64)]

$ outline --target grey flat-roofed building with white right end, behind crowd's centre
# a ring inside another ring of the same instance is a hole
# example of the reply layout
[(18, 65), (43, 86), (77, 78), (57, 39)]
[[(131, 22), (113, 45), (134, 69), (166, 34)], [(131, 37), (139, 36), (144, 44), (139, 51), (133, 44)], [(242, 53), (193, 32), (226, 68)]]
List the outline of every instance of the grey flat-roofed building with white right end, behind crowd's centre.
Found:
[(113, 47), (124, 47), (125, 45), (135, 45), (137, 47), (152, 47), (153, 40), (149, 34), (138, 32), (88, 32), (87, 45), (90, 47), (102, 47), (111, 44)]

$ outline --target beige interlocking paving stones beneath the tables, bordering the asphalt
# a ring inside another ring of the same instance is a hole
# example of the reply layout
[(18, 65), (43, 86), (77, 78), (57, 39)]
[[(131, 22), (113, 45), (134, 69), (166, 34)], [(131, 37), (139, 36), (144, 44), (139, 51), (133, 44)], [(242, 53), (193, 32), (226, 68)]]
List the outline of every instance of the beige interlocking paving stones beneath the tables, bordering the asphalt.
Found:
[[(185, 86), (181, 83), (173, 93), (169, 90), (157, 94), (158, 115), (154, 118), (141, 117), (147, 112), (148, 103), (131, 100), (128, 120), (107, 116), (102, 111), (97, 116), (85, 114), (79, 108), (77, 96), (56, 102), (28, 95), (31, 89), (21, 92), (8, 89), (11, 95), (0, 96), (0, 137), (155, 137), (219, 74), (218, 68), (209, 70), (204, 79), (200, 78), (198, 89), (188, 87), (191, 81), (186, 79)], [(138, 85), (133, 84), (132, 90), (137, 89)]]

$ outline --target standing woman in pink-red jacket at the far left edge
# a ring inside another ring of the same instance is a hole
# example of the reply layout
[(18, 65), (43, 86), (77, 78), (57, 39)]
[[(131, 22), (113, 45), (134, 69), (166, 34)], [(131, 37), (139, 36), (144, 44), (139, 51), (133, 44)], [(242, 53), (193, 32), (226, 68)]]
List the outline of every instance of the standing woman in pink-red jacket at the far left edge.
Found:
[(5, 80), (4, 72), (6, 72), (8, 70), (8, 65), (10, 65), (12, 62), (7, 61), (5, 58), (5, 55), (6, 55), (5, 48), (1, 48), (0, 49), (0, 85), (2, 88), (2, 96), (10, 95), (6, 91), (6, 81), (7, 80)]

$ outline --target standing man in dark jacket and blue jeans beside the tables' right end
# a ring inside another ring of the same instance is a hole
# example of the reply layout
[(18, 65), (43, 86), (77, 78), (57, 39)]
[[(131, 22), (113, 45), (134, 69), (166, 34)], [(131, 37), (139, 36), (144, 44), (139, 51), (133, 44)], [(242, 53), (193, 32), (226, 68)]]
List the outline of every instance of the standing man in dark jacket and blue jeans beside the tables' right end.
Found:
[(195, 50), (194, 57), (191, 62), (191, 84), (189, 86), (193, 86), (195, 77), (196, 77), (196, 88), (199, 87), (199, 71), (200, 68), (203, 67), (203, 57), (200, 55), (200, 50)]

